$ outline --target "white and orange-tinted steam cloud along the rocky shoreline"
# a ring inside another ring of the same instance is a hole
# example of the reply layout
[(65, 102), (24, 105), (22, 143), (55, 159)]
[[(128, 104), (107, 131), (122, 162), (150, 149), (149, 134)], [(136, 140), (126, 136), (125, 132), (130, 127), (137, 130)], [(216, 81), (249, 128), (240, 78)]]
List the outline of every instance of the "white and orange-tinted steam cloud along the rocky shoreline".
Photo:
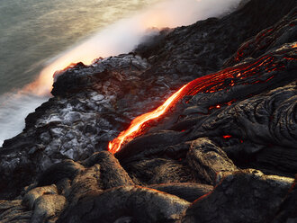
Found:
[(0, 97), (0, 146), (24, 128), (29, 112), (49, 98), (52, 75), (71, 63), (92, 63), (94, 58), (127, 53), (134, 49), (148, 29), (174, 28), (198, 20), (220, 16), (234, 10), (241, 0), (166, 0), (129, 19), (123, 19), (99, 31), (76, 47), (52, 58), (36, 81), (14, 94)]

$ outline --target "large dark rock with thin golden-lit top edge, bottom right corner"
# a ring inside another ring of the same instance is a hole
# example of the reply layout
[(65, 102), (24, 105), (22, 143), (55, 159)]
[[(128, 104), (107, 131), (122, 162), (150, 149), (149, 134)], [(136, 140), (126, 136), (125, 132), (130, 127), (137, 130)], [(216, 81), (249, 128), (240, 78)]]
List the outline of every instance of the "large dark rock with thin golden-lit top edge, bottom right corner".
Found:
[(253, 169), (229, 174), (213, 192), (194, 201), (182, 221), (270, 222), (292, 184), (292, 178)]

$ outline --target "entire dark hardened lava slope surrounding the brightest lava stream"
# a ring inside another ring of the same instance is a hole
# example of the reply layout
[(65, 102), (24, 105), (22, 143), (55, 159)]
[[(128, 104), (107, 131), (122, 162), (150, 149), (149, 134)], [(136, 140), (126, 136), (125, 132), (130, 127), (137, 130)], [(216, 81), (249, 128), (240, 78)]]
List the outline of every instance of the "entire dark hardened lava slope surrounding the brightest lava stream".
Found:
[(251, 0), (57, 72), (0, 149), (0, 221), (297, 222), (296, 25), (295, 0)]

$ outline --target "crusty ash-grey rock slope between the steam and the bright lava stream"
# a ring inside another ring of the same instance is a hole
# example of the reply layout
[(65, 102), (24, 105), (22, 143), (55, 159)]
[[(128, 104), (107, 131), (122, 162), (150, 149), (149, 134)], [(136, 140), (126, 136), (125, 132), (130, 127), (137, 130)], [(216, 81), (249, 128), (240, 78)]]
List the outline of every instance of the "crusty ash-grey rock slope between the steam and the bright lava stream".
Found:
[[(10, 177), (24, 186), (49, 165), (65, 158), (83, 160), (105, 149), (132, 118), (152, 109), (156, 105), (151, 101), (160, 99), (154, 94), (157, 99), (148, 99), (146, 105), (143, 97), (147, 94), (138, 94), (139, 86), (144, 85), (139, 83), (141, 74), (148, 67), (145, 59), (122, 55), (56, 75), (55, 97), (26, 118), (23, 133), (4, 142), (0, 163), (5, 174), (0, 188), (7, 186)], [(14, 190), (15, 186), (9, 184), (8, 188)]]

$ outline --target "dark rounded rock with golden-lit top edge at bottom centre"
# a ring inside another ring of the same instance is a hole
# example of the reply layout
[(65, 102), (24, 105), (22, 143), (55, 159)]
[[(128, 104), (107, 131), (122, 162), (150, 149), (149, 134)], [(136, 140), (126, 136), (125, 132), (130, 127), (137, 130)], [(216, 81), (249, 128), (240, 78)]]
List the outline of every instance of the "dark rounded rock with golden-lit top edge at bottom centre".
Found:
[(66, 209), (57, 222), (175, 222), (189, 202), (164, 192), (139, 186), (125, 186), (86, 196), (74, 208)]

